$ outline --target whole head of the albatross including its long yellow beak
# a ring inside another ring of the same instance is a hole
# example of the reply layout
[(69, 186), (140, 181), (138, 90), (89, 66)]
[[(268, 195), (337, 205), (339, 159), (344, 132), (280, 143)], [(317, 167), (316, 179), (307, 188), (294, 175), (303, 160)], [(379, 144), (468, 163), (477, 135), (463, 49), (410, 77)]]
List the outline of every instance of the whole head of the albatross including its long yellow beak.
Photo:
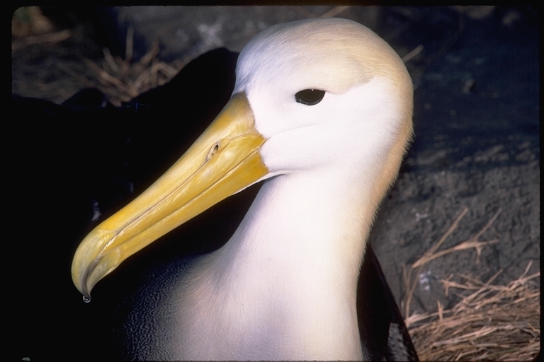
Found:
[(385, 41), (346, 19), (274, 25), (236, 72), (231, 100), (193, 146), (79, 245), (72, 279), (86, 298), (130, 255), (260, 180), (369, 173), (378, 206), (412, 136), (412, 82)]

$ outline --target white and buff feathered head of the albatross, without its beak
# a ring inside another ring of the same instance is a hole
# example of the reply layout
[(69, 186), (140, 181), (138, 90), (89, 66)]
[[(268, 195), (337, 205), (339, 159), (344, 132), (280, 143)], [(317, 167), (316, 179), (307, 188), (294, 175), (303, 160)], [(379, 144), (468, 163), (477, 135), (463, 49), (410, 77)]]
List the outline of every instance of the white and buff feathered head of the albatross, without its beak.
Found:
[[(297, 93), (310, 89), (324, 91), (322, 100), (298, 102)], [(242, 50), (237, 93), (266, 139), (268, 177), (328, 166), (353, 177), (370, 171), (374, 206), (395, 180), (412, 136), (412, 81), (365, 26), (341, 18), (273, 25)]]

